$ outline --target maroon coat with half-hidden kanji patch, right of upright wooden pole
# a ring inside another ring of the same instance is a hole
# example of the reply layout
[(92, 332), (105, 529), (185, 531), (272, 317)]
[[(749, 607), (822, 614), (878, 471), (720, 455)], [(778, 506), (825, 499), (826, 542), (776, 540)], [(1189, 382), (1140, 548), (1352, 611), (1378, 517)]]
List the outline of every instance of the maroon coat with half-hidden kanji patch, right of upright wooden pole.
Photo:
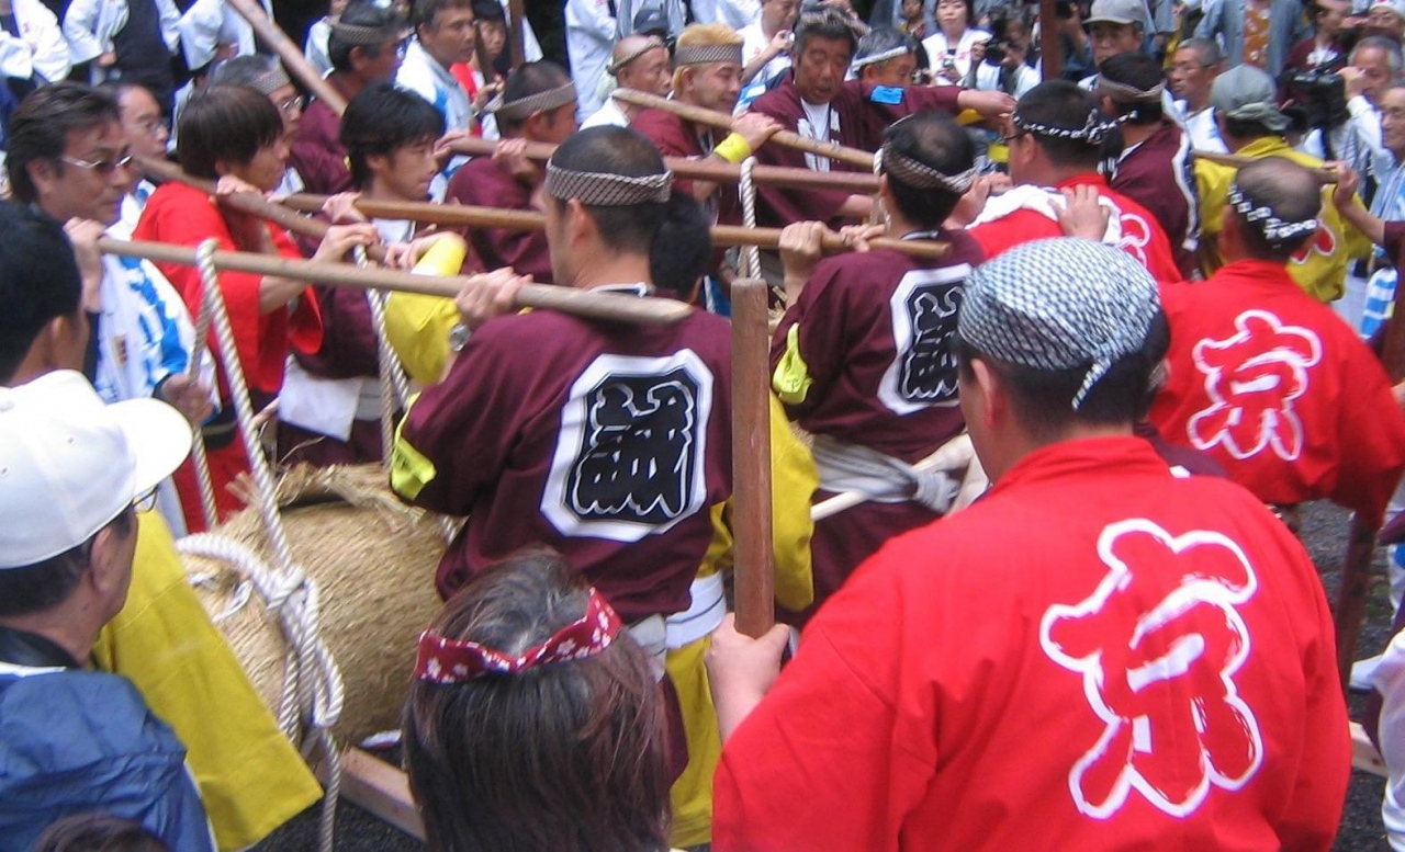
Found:
[[(771, 342), (771, 365), (780, 368), (777, 392), (805, 431), (908, 463), (961, 431), (951, 340), (961, 289), (982, 257), (962, 232), (943, 232), (939, 239), (951, 244), (940, 261), (877, 250), (840, 254), (815, 267)], [(802, 399), (780, 385), (797, 355), (809, 380)], [(822, 476), (816, 500), (832, 495), (823, 487)], [(937, 517), (919, 502), (874, 501), (816, 524), (813, 608), (889, 538)]]

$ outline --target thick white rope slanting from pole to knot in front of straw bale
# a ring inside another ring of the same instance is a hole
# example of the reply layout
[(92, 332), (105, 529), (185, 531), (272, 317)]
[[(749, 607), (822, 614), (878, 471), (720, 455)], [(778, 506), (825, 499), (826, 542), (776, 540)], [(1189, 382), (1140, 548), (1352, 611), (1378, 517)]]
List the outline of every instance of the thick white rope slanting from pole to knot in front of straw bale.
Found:
[(268, 460), (259, 442), (249, 385), (244, 382), (244, 371), (239, 364), (239, 350), (235, 344), (233, 327), (229, 323), (229, 312), (225, 309), (225, 298), (219, 291), (219, 277), (214, 264), (216, 244), (215, 240), (201, 243), (195, 260), (204, 282), (204, 305), (209, 313), (209, 323), (214, 326), (215, 340), (225, 364), (225, 379), (235, 406), (235, 418), (244, 441), (244, 451), (249, 455), (249, 469), (254, 481), (253, 498), (264, 521), (264, 533), (273, 552), (274, 570), (270, 574), (275, 581), (268, 585), (266, 598), (268, 611), (278, 618), (284, 629), (289, 648), (278, 721), (284, 733), (296, 740), (299, 717), (305, 720), (309, 738), (322, 745), (326, 755), (329, 773), (319, 839), (323, 852), (330, 852), (337, 796), (341, 790), (341, 764), (337, 759), (337, 748), (332, 740), (330, 728), (341, 716), (344, 698), (341, 672), (322, 641), (318, 625), (318, 587), (292, 561), (288, 533), (278, 514), (273, 470), (268, 467)]

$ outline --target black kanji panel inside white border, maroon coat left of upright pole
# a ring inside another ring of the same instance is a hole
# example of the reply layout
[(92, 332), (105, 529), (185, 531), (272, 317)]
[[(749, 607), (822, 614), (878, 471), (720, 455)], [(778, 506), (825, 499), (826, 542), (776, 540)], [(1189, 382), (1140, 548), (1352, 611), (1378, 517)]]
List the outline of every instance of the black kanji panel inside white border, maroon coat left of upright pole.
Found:
[(586, 422), (566, 480), (580, 521), (662, 525), (690, 510), (700, 444), (698, 394), (686, 368), (607, 375), (586, 393)]

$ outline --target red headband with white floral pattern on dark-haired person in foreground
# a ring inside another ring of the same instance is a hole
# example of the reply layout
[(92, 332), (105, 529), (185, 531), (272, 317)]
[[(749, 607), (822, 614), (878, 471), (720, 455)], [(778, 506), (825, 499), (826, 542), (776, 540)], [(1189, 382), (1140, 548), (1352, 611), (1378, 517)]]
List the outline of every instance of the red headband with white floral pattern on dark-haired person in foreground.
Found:
[(516, 657), (476, 641), (420, 633), (414, 679), (452, 685), (490, 675), (513, 675), (528, 668), (583, 660), (608, 648), (620, 634), (620, 616), (600, 592), (590, 590), (586, 613)]

